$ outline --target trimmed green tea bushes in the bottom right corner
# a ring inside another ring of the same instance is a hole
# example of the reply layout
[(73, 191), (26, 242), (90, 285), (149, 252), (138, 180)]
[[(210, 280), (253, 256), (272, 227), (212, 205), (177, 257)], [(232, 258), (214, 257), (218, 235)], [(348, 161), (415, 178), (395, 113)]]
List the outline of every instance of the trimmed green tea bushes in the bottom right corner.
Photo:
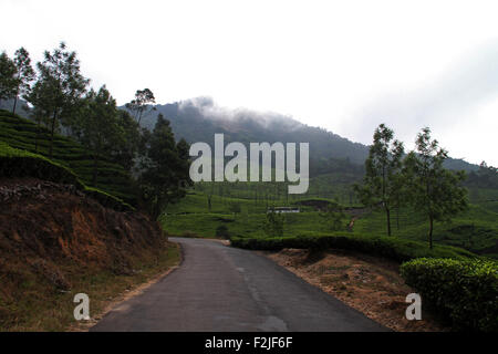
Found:
[(401, 274), (456, 330), (498, 331), (496, 262), (423, 258), (402, 264)]

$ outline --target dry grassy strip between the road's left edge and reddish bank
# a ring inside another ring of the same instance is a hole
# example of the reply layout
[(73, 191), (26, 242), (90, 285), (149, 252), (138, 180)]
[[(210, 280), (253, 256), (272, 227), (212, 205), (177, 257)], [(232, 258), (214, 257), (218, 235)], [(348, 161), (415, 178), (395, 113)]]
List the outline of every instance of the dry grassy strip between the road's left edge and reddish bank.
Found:
[[(81, 268), (71, 263), (61, 264), (60, 271), (71, 279), (71, 291), (61, 292), (41, 275), (18, 268), (15, 279), (20, 281), (18, 296), (0, 296), (0, 331), (65, 331), (77, 325), (73, 317), (76, 293), (90, 296), (90, 315), (94, 317), (126, 290), (147, 282), (178, 264), (179, 247), (169, 243), (164, 252), (146, 262), (135, 260), (134, 274), (115, 274), (110, 270)], [(2, 292), (7, 291), (2, 289)], [(1, 293), (1, 292), (0, 292)]]

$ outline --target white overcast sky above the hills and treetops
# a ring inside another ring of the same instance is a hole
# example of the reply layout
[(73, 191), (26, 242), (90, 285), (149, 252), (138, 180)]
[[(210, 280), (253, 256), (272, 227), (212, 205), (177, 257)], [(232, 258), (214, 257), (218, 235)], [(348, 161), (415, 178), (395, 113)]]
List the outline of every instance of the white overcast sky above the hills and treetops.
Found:
[(1, 0), (0, 50), (65, 41), (120, 104), (211, 96), (371, 143), (425, 125), (453, 157), (498, 165), (497, 1)]

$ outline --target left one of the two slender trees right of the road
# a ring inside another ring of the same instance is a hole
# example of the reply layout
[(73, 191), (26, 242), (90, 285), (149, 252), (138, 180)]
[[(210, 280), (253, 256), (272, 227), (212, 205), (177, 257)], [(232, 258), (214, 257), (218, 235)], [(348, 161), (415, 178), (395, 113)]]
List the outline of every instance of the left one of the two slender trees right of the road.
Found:
[(402, 170), (403, 143), (394, 140), (392, 129), (381, 124), (373, 135), (365, 162), (363, 186), (355, 186), (364, 205), (381, 206), (386, 215), (387, 235), (391, 236), (391, 209), (397, 200), (398, 176)]

